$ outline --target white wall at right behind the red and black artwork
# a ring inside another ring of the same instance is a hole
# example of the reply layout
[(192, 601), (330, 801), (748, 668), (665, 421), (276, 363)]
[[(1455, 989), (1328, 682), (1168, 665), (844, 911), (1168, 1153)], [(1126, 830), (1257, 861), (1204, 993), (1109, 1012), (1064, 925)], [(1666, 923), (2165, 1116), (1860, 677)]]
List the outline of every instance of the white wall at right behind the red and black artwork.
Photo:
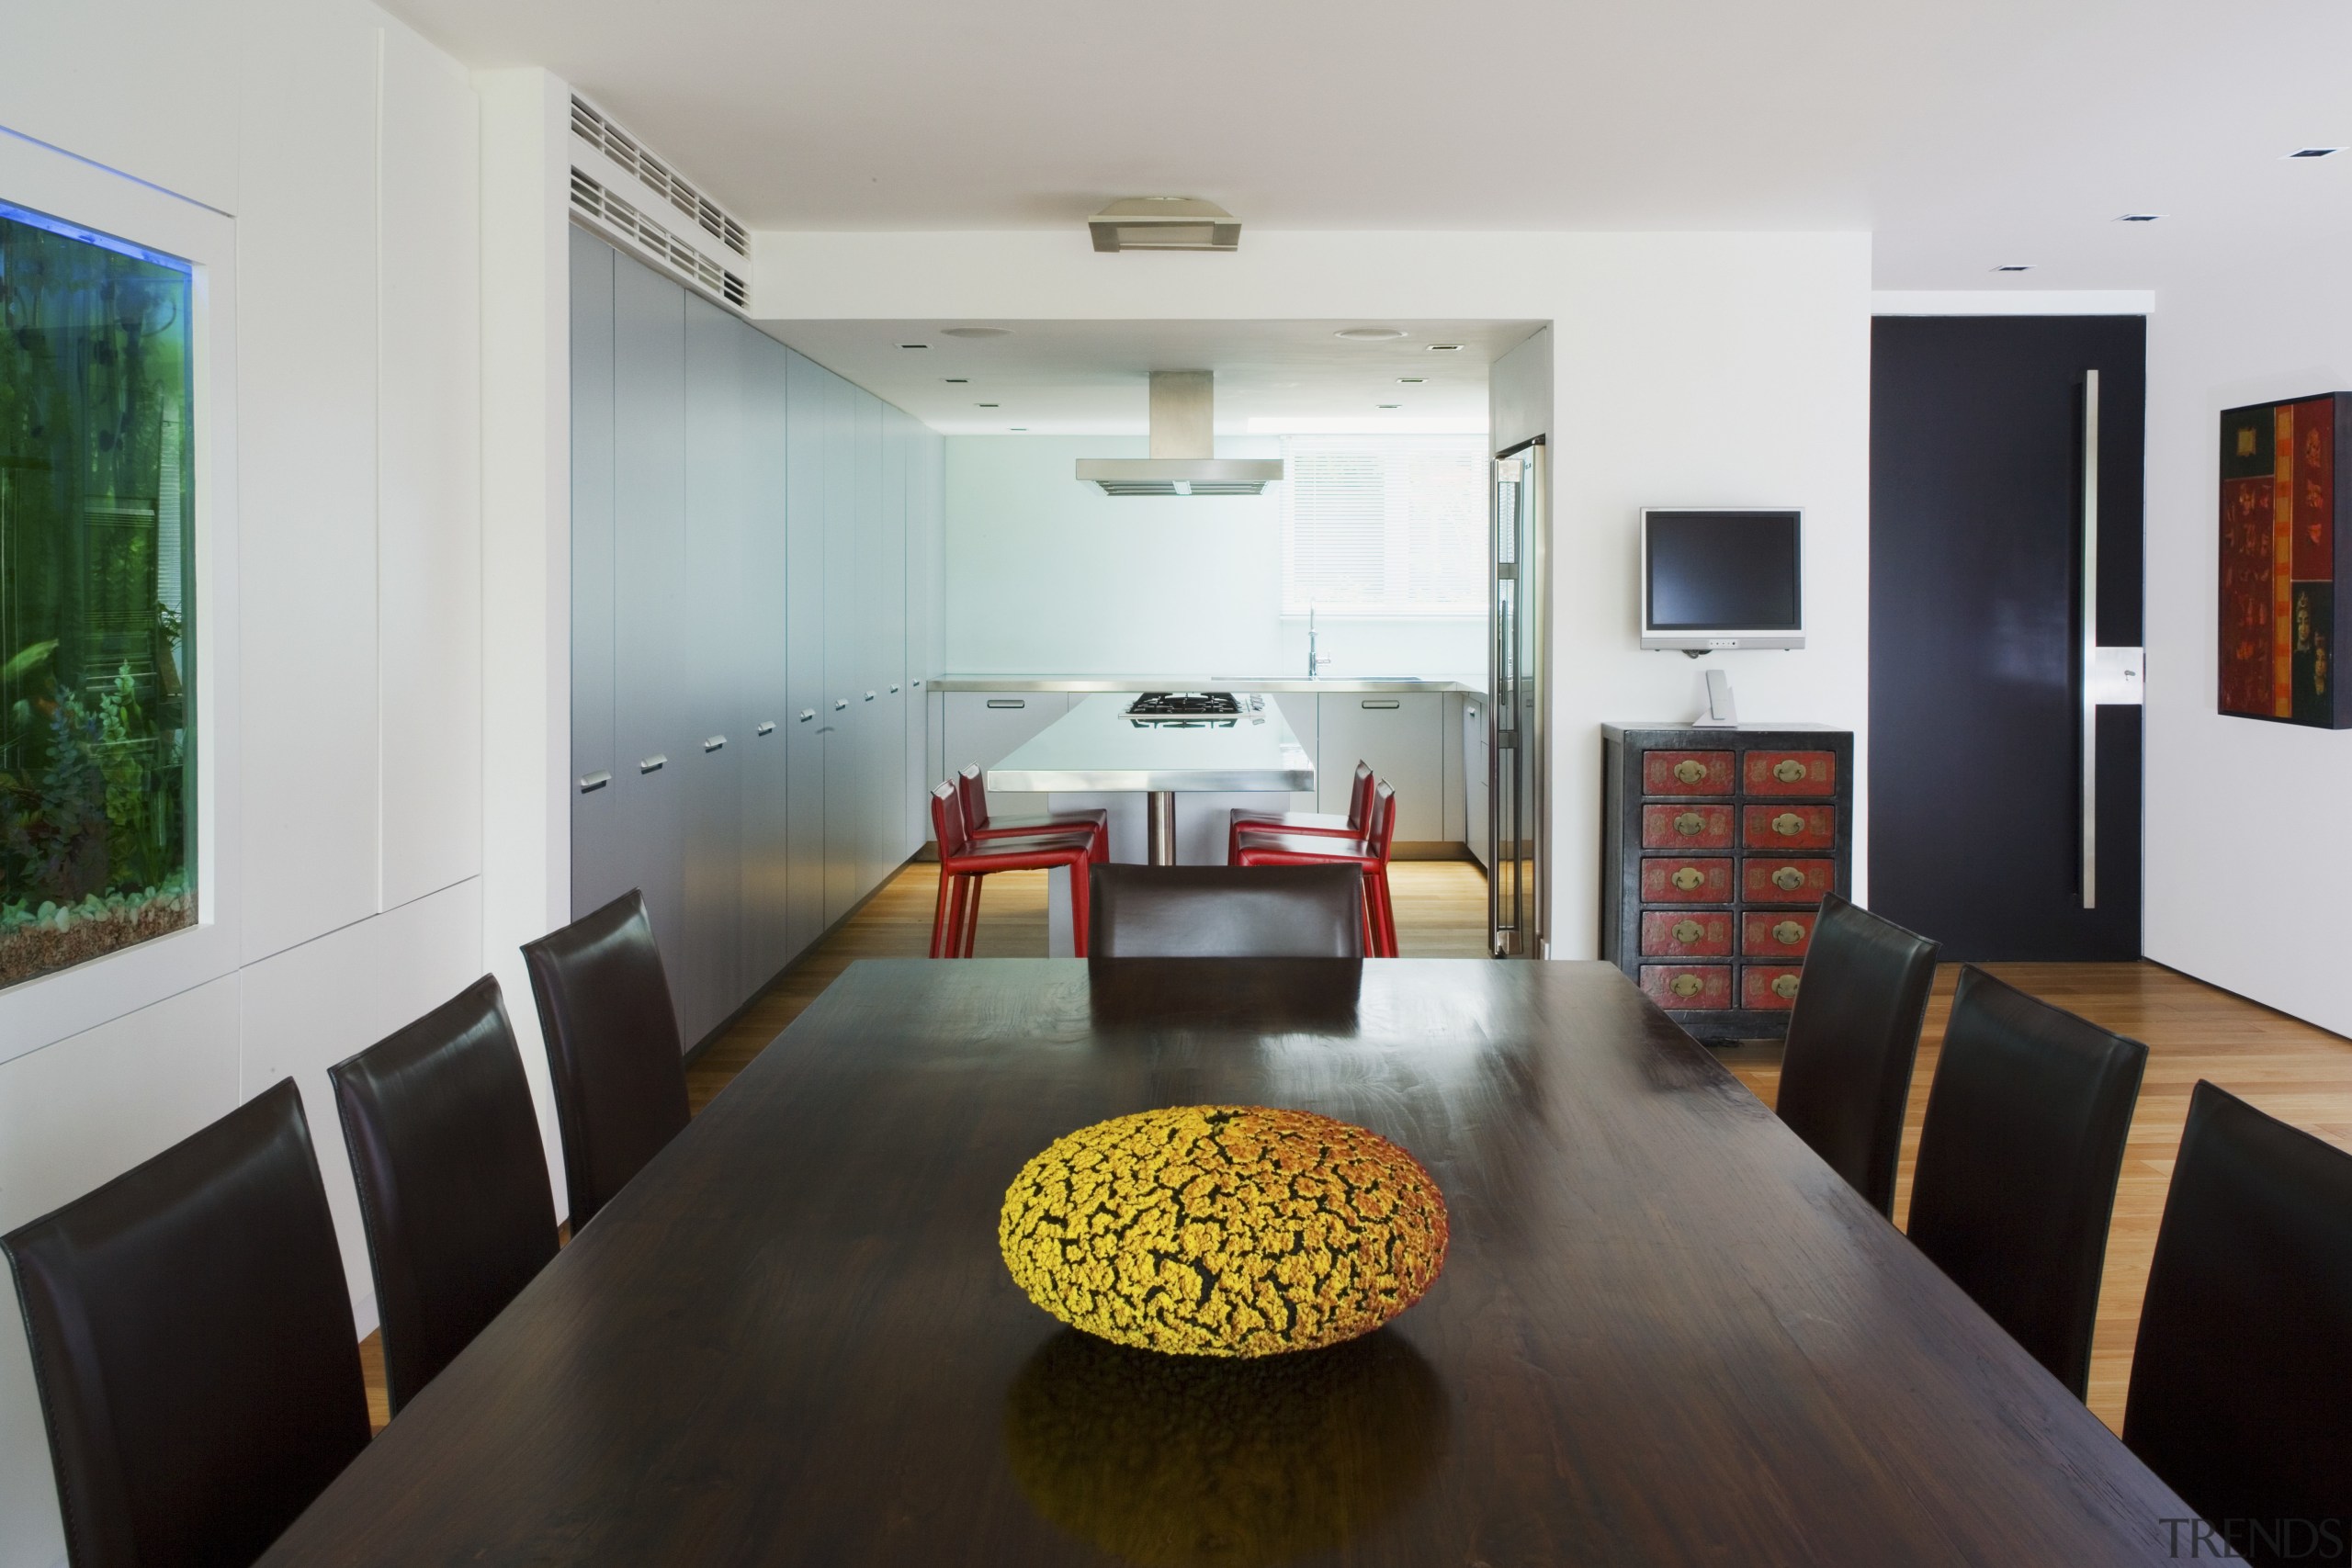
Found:
[(2338, 1034), (2352, 1034), (2352, 731), (2216, 712), (2216, 574), (2220, 411), (2345, 388), (2352, 301), (2324, 254), (2265, 259), (2258, 287), (2244, 273), (2164, 287), (2147, 320), (2143, 947)]

